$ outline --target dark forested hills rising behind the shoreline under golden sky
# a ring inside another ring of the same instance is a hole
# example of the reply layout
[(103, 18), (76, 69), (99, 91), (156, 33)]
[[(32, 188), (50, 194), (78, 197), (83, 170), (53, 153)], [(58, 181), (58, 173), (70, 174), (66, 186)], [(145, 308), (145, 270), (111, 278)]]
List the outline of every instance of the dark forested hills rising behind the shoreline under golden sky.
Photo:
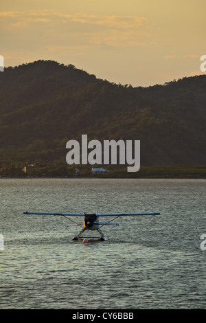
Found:
[(132, 87), (38, 60), (0, 73), (0, 164), (66, 164), (66, 142), (140, 140), (141, 166), (205, 165), (206, 76)]

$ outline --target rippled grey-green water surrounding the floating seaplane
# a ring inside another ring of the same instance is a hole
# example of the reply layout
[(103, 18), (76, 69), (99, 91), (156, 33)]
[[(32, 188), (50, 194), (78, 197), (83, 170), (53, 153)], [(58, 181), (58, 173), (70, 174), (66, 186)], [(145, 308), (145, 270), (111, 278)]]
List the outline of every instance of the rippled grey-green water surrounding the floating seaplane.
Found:
[[(205, 183), (0, 179), (0, 309), (205, 309)], [(161, 215), (122, 217), (106, 241), (82, 243), (67, 219), (23, 214), (96, 208)]]

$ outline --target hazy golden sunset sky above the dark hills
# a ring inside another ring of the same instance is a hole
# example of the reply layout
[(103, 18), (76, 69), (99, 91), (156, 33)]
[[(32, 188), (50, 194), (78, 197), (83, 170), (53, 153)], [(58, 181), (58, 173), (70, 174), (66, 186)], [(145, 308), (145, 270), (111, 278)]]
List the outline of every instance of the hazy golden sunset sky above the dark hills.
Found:
[(5, 67), (55, 60), (148, 87), (205, 74), (206, 0), (1, 1)]

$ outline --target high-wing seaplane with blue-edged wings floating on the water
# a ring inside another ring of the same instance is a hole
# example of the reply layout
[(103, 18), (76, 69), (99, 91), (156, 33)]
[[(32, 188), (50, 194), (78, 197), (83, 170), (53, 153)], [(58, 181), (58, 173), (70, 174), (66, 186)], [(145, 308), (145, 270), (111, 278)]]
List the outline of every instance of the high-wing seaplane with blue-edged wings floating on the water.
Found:
[[(98, 210), (94, 214), (87, 214), (87, 213), (52, 213), (52, 212), (23, 212), (23, 214), (36, 214), (36, 215), (53, 215), (53, 216), (64, 216), (66, 219), (69, 219), (76, 225), (82, 227), (82, 230), (77, 236), (72, 238), (73, 241), (83, 240), (83, 242), (88, 242), (87, 238), (83, 234), (86, 230), (91, 231), (98, 231), (100, 236), (98, 236), (98, 240), (104, 241), (105, 236), (100, 230), (100, 227), (104, 225), (119, 225), (119, 223), (113, 223), (115, 219), (119, 218), (120, 216), (147, 216), (147, 215), (158, 215), (160, 213), (153, 212), (153, 213), (109, 213), (109, 214), (99, 214)], [(71, 220), (70, 216), (84, 216), (84, 222), (76, 223), (76, 221)], [(100, 219), (104, 218), (104, 216), (111, 216), (112, 219), (106, 222), (100, 222)], [(100, 219), (99, 219), (100, 218)], [(88, 237), (91, 238), (91, 237)]]

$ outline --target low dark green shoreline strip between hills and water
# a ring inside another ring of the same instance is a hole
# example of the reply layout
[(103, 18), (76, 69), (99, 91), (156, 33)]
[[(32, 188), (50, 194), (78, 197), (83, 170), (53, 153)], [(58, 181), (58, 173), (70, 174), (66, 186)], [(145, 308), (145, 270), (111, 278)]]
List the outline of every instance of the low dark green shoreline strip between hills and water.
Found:
[(27, 172), (23, 172), (22, 166), (5, 166), (0, 169), (0, 179), (5, 178), (104, 178), (104, 179), (206, 179), (206, 165), (187, 166), (141, 166), (138, 172), (127, 172), (126, 168), (114, 169), (108, 166), (108, 172), (91, 173), (89, 167), (36, 166)]

